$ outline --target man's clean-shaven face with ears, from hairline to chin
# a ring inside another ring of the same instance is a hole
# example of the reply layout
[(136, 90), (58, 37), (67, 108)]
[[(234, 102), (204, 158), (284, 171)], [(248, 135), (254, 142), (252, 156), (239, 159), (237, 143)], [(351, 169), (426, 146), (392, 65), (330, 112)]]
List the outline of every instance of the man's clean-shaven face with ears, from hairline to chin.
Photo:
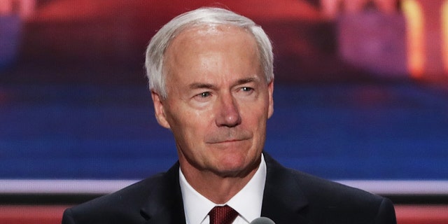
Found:
[(244, 176), (256, 169), (273, 112), (253, 36), (237, 27), (182, 31), (165, 53), (167, 99), (155, 113), (176, 139), (183, 172)]

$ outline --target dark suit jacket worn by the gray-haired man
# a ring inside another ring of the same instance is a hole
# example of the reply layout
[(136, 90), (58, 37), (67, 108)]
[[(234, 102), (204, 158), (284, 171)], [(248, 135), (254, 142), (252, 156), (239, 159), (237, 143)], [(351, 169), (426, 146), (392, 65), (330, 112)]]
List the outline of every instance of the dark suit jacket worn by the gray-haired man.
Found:
[[(390, 200), (286, 169), (267, 153), (261, 216), (281, 223), (395, 222)], [(64, 212), (62, 223), (185, 223), (179, 163), (168, 172)]]

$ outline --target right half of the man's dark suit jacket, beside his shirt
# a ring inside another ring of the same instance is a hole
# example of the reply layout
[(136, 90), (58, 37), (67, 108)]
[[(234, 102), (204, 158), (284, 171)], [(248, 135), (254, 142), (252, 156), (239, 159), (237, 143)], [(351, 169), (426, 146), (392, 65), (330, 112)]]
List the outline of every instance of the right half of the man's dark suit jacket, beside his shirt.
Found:
[(396, 223), (393, 204), (384, 197), (287, 169), (266, 154), (265, 159), (262, 216), (276, 224)]

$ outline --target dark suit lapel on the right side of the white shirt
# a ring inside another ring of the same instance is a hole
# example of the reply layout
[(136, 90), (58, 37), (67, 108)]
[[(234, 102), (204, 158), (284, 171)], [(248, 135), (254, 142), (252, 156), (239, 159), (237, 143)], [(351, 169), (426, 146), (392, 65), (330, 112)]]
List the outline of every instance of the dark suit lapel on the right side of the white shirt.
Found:
[(271, 218), (277, 224), (307, 223), (303, 210), (307, 207), (308, 201), (300, 190), (297, 179), (267, 153), (263, 154), (267, 176), (261, 216)]

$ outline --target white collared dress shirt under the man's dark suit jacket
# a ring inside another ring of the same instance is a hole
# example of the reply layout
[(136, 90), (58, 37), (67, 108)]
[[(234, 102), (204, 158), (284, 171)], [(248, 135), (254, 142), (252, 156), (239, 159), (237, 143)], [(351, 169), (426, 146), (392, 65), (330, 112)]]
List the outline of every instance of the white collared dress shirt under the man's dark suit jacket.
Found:
[(243, 189), (225, 204), (215, 204), (198, 193), (185, 179), (179, 168), (179, 181), (187, 224), (209, 224), (209, 211), (215, 206), (227, 204), (235, 209), (239, 216), (233, 224), (248, 224), (261, 215), (261, 204), (266, 181), (266, 162), (261, 155), (260, 167)]

